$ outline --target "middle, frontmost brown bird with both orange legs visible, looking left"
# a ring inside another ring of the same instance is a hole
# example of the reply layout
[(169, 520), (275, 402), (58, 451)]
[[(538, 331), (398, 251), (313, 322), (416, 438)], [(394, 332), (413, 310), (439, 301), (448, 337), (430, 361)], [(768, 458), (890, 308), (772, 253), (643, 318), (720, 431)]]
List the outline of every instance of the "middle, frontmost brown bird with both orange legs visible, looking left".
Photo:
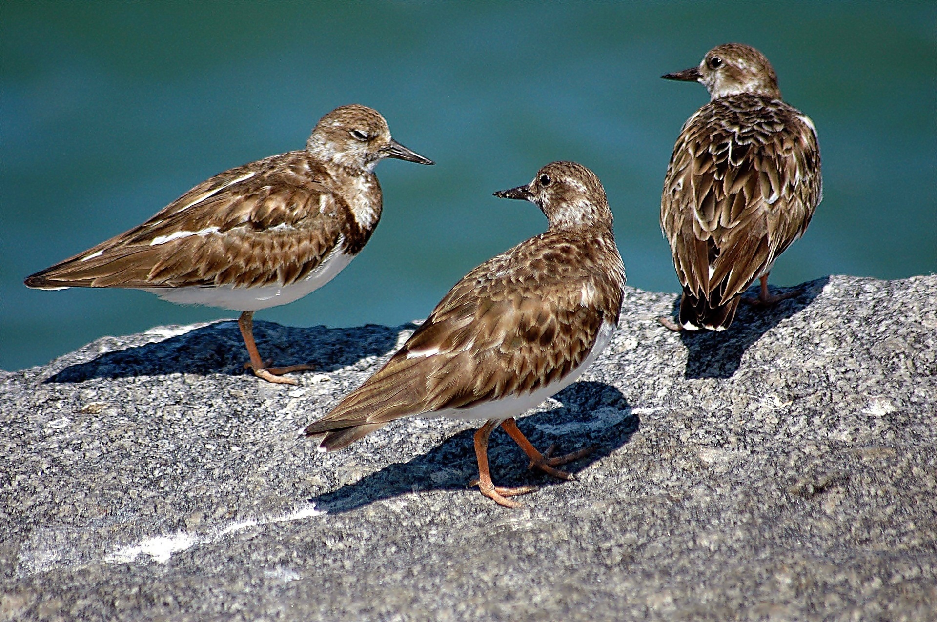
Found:
[(488, 437), (500, 425), (531, 467), (570, 478), (554, 467), (591, 449), (544, 456), (514, 417), (575, 382), (608, 344), (625, 268), (602, 183), (585, 166), (554, 162), (528, 185), (495, 195), (535, 203), (549, 228), (457, 282), (403, 347), (305, 434), (334, 451), (402, 417), (485, 420), (475, 433), (478, 485), (514, 508), (521, 504), (507, 498), (533, 487), (492, 484)]

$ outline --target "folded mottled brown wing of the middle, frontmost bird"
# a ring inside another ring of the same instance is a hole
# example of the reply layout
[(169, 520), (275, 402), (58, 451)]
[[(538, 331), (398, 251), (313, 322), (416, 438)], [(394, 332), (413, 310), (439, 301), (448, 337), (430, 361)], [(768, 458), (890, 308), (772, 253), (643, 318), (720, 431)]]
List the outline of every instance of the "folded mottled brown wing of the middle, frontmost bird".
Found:
[[(611, 276), (600, 253), (616, 267)], [(617, 324), (623, 284), (614, 240), (529, 239), (469, 272), (387, 364), (306, 434), (336, 430), (322, 445), (339, 449), (373, 429), (343, 428), (467, 409), (555, 382), (583, 362), (602, 322)]]

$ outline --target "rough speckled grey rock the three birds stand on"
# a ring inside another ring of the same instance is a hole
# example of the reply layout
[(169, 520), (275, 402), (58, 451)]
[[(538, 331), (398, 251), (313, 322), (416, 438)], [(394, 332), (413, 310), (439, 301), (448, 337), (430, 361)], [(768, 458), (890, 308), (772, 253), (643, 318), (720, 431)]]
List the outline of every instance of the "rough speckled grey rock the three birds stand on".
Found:
[[(103, 338), (0, 372), (0, 620), (932, 620), (937, 277), (830, 277), (719, 334), (629, 289), (584, 379), (520, 422), (579, 481), (476, 489), (470, 423), (323, 455), (299, 438), (413, 325), (233, 322)], [(743, 305), (743, 307), (745, 307)]]

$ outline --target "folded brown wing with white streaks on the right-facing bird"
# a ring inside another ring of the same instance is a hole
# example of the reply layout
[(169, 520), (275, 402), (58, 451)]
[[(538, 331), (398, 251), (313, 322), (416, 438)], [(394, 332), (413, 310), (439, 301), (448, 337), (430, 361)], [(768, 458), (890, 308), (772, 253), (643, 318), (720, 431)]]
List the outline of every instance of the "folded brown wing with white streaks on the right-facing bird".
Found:
[[(342, 235), (335, 215), (348, 210), (319, 168), (305, 152), (232, 168), (145, 223), (37, 272), (26, 284), (158, 288), (296, 282), (335, 247)], [(202, 233), (191, 235), (197, 232)]]

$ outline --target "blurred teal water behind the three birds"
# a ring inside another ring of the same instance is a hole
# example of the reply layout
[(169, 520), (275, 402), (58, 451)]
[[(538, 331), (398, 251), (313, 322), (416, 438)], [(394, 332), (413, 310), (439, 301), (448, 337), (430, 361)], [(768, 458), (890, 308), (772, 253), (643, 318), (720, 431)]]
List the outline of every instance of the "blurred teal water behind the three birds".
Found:
[(378, 167), (384, 216), (349, 268), (258, 319), (396, 325), (543, 230), (495, 190), (577, 160), (602, 179), (629, 283), (677, 292), (663, 174), (700, 85), (660, 80), (728, 41), (771, 60), (819, 130), (825, 199), (772, 282), (937, 269), (934, 3), (0, 4), (0, 369), (102, 335), (232, 317), (22, 279), (218, 171), (301, 148), (328, 110), (379, 109), (437, 166)]

